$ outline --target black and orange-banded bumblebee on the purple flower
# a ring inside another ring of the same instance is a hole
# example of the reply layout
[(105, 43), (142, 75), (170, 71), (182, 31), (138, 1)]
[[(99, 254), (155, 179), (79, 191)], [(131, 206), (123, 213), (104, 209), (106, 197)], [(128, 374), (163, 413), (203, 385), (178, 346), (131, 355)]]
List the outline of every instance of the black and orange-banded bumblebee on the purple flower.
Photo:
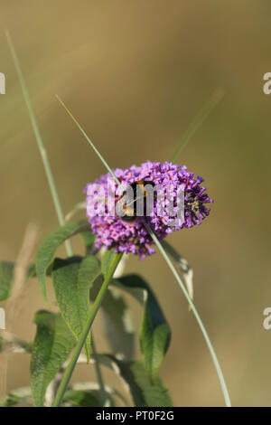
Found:
[[(136, 180), (134, 183), (129, 184), (132, 188), (132, 191), (129, 192), (129, 196), (127, 199), (127, 192), (125, 191), (119, 198), (117, 199), (116, 204), (116, 212), (117, 215), (120, 216), (123, 222), (135, 222), (137, 213), (136, 213), (136, 205), (137, 201), (144, 201), (144, 215), (146, 213), (146, 202), (145, 199), (148, 196), (147, 189), (145, 188), (145, 184), (151, 184), (154, 187), (153, 182), (145, 181), (145, 180)], [(137, 190), (137, 187), (140, 189)], [(139, 194), (138, 194), (139, 192)]]

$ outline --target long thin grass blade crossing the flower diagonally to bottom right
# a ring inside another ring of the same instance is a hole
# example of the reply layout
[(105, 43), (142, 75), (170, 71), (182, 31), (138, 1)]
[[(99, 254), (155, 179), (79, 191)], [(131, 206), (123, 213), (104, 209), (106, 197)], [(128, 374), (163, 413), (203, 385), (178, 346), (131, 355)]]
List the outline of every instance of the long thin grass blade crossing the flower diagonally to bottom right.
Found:
[[(83, 133), (83, 135), (85, 137), (87, 137), (85, 131), (82, 129), (82, 127), (80, 127), (78, 121), (76, 120), (76, 118), (73, 117), (73, 115), (71, 114), (70, 110), (63, 104), (62, 101), (61, 101), (61, 104), (66, 109), (66, 111), (69, 113), (69, 115), (72, 118), (72, 120), (76, 123), (77, 127), (79, 127), (79, 130)], [(89, 137), (87, 137), (87, 139), (89, 140)], [(90, 146), (93, 146), (93, 143), (92, 142), (90, 143)], [(96, 152), (96, 154), (98, 155), (99, 158), (102, 157), (101, 154), (98, 152), (98, 149), (96, 147), (95, 147), (94, 151)], [(108, 171), (110, 170), (110, 174), (111, 175), (114, 175), (113, 171), (111, 170), (111, 168), (109, 167), (109, 165), (107, 165), (107, 162), (106, 162), (106, 160), (103, 157), (102, 157), (102, 162), (103, 162), (104, 165), (106, 165), (107, 170)], [(115, 178), (115, 180), (117, 181), (117, 177)], [(120, 185), (120, 183), (118, 183), (118, 184)], [(225, 382), (224, 377), (223, 377), (222, 370), (220, 368), (220, 363), (219, 363), (218, 357), (217, 357), (217, 355), (216, 355), (216, 353), (214, 351), (214, 348), (213, 348), (213, 346), (210, 343), (210, 337), (209, 337), (209, 335), (207, 333), (207, 330), (205, 329), (205, 326), (202, 323), (201, 316), (199, 315), (196, 307), (194, 306), (191, 297), (189, 297), (189, 294), (188, 294), (185, 286), (183, 285), (182, 280), (181, 280), (178, 272), (176, 271), (176, 269), (173, 266), (172, 261), (169, 259), (169, 257), (167, 256), (166, 252), (164, 251), (164, 248), (162, 247), (160, 241), (158, 241), (158, 239), (154, 235), (154, 232), (147, 225), (145, 225), (145, 227), (146, 227), (146, 230), (150, 233), (151, 237), (153, 238), (154, 243), (157, 246), (158, 250), (160, 250), (160, 252), (162, 253), (162, 255), (164, 257), (164, 260), (166, 261), (167, 265), (169, 266), (169, 268), (173, 272), (174, 278), (177, 280), (178, 284), (182, 288), (182, 291), (184, 293), (184, 296), (187, 298), (190, 306), (192, 307), (192, 312), (193, 312), (194, 316), (196, 317), (196, 320), (197, 320), (197, 322), (198, 322), (198, 324), (199, 324), (199, 326), (201, 328), (202, 335), (205, 338), (205, 341), (206, 341), (207, 346), (208, 346), (209, 351), (210, 351), (211, 358), (213, 360), (213, 363), (215, 365), (216, 371), (218, 373), (219, 380), (220, 380), (220, 386), (221, 386), (221, 390), (222, 390), (222, 393), (223, 393), (223, 396), (224, 396), (224, 400), (225, 400), (226, 406), (227, 407), (230, 407), (231, 404), (230, 404), (230, 400), (229, 400), (229, 392), (228, 392), (227, 385), (226, 385), (226, 382)]]

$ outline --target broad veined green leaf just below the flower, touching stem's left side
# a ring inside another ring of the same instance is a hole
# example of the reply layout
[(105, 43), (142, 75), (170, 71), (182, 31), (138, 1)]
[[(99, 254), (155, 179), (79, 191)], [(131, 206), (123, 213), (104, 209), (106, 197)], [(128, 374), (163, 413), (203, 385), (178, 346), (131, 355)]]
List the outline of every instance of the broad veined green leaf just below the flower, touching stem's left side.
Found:
[[(53, 263), (52, 283), (61, 315), (77, 339), (89, 316), (89, 287), (100, 273), (96, 257), (70, 257)], [(85, 350), (90, 358), (90, 333)]]

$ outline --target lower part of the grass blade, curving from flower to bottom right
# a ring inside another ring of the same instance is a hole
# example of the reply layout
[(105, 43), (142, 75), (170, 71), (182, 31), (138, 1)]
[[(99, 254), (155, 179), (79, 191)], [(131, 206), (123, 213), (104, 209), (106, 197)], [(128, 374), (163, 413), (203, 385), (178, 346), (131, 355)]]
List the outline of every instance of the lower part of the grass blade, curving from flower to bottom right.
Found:
[(196, 320), (197, 320), (197, 322), (198, 322), (198, 324), (201, 328), (202, 335), (205, 338), (206, 344), (207, 344), (209, 351), (210, 351), (211, 358), (213, 360), (216, 371), (218, 373), (219, 380), (220, 380), (220, 386), (221, 386), (221, 390), (223, 392), (223, 396), (224, 396), (226, 406), (231, 407), (231, 402), (230, 402), (230, 399), (229, 399), (229, 392), (228, 392), (228, 388), (227, 388), (227, 385), (226, 385), (226, 382), (224, 380), (224, 376), (223, 376), (223, 373), (222, 373), (222, 370), (221, 370), (221, 367), (220, 367), (220, 362), (219, 362), (217, 354), (215, 353), (215, 350), (214, 350), (214, 348), (213, 348), (213, 346), (210, 342), (210, 337), (208, 335), (208, 332), (207, 332), (207, 330), (205, 329), (205, 326), (202, 323), (201, 316), (199, 315), (197, 308), (195, 307), (194, 303), (192, 302), (192, 298), (189, 296), (185, 286), (183, 285), (182, 279), (180, 278), (179, 274), (177, 273), (176, 269), (174, 268), (172, 261), (170, 260), (170, 258), (166, 254), (166, 252), (165, 252), (162, 244), (160, 243), (160, 241), (158, 241), (157, 237), (155, 236), (154, 231), (152, 231), (147, 224), (145, 224), (145, 228), (150, 233), (150, 235), (152, 236), (155, 245), (157, 246), (158, 250), (160, 250), (160, 252), (163, 255), (164, 260), (166, 261), (169, 268), (172, 270), (174, 278), (179, 283), (180, 287), (182, 288), (182, 292), (183, 292), (184, 296), (186, 297), (190, 307), (192, 308), (192, 312), (193, 312), (194, 316), (196, 317)]

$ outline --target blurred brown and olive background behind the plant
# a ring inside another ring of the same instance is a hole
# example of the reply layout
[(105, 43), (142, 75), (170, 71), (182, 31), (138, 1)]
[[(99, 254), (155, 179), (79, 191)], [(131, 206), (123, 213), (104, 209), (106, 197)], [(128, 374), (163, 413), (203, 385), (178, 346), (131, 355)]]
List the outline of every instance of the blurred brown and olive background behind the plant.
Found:
[[(5, 28), (14, 39), (65, 213), (83, 201), (85, 184), (105, 170), (55, 93), (109, 165), (126, 167), (168, 159), (202, 105), (222, 88), (224, 98), (179, 160), (204, 176), (215, 203), (201, 226), (176, 232), (169, 241), (194, 270), (195, 302), (233, 404), (270, 405), (271, 331), (262, 325), (263, 310), (271, 306), (271, 96), (263, 93), (263, 75), (271, 71), (270, 2), (1, 0), (0, 9), (0, 71), (6, 76), (6, 94), (0, 96), (1, 260), (17, 258), (29, 222), (39, 228), (37, 246), (58, 226)], [(79, 239), (72, 244), (82, 250)], [(161, 375), (175, 405), (223, 405), (201, 332), (160, 254), (144, 261), (131, 257), (126, 270), (148, 279), (172, 326)], [(33, 339), (33, 314), (44, 307), (33, 280), (24, 289), (13, 332)], [(132, 308), (138, 329), (141, 312)], [(104, 351), (101, 331), (98, 317), (97, 345)], [(29, 360), (26, 354), (9, 355), (1, 392), (5, 385), (9, 391), (29, 383)], [(113, 373), (103, 372), (121, 388)], [(92, 366), (79, 366), (74, 374), (74, 381), (93, 378)]]

